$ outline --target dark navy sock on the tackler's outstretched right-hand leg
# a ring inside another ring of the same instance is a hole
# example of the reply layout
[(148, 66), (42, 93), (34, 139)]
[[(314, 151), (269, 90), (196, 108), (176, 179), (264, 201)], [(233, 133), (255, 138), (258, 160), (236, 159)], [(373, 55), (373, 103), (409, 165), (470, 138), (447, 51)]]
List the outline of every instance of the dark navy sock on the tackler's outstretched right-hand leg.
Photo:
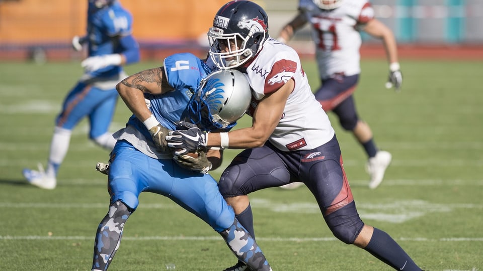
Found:
[(421, 270), (404, 249), (382, 230), (374, 228), (372, 238), (364, 249), (396, 270)]

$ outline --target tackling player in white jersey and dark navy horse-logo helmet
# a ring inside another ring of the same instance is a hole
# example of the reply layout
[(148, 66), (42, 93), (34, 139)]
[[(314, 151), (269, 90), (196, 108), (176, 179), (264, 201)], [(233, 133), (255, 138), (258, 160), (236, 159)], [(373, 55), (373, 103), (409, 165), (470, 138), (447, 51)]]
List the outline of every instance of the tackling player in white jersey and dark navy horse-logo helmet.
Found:
[[(364, 224), (344, 173), (341, 150), (327, 114), (316, 101), (296, 52), (269, 37), (268, 16), (250, 1), (220, 8), (208, 32), (209, 65), (247, 74), (251, 127), (204, 133), (171, 131), (180, 155), (206, 147), (246, 149), (223, 171), (219, 189), (238, 221), (254, 234), (248, 194), (303, 182), (334, 235), (399, 270), (421, 270), (387, 233)], [(242, 262), (225, 270), (249, 270)]]

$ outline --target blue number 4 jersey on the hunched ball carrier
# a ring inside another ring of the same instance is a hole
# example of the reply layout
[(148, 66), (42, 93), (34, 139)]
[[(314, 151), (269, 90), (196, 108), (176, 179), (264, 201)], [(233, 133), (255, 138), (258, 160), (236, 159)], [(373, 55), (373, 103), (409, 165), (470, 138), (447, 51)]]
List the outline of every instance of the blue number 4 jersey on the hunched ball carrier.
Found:
[[(144, 94), (144, 98), (157, 121), (174, 130), (176, 122), (180, 121), (181, 115), (200, 85), (201, 79), (205, 78), (211, 70), (203, 60), (190, 53), (167, 57), (164, 61), (164, 68), (168, 83), (175, 90), (159, 95)], [(142, 132), (146, 139), (151, 140), (146, 126), (135, 115), (129, 118), (127, 124), (134, 126)]]

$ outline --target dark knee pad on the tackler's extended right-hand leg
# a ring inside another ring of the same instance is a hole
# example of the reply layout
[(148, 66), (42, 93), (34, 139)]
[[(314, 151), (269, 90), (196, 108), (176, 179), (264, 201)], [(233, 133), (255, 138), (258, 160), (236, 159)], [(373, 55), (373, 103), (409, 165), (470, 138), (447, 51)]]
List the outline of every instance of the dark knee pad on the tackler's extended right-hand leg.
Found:
[(364, 226), (354, 201), (324, 217), (337, 239), (353, 244)]

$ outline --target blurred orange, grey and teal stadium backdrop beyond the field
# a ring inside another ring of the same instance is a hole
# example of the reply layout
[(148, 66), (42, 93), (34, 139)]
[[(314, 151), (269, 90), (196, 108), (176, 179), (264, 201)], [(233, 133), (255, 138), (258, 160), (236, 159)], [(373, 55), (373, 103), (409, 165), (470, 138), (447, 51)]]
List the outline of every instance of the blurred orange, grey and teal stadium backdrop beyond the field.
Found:
[[(85, 33), (87, 1), (0, 0), (0, 60), (68, 60), (82, 53), (70, 49), (74, 35)], [(143, 60), (178, 52), (206, 52), (206, 32), (226, 0), (121, 0), (134, 17), (134, 35)], [(295, 0), (255, 1), (270, 18), (270, 34), (296, 13)], [(483, 58), (483, 2), (480, 0), (372, 0), (376, 17), (390, 27), (400, 55)], [(308, 26), (290, 41), (302, 56), (311, 55)], [(364, 36), (362, 55), (384, 56), (380, 43)], [(459, 52), (457, 56), (455, 52)]]

